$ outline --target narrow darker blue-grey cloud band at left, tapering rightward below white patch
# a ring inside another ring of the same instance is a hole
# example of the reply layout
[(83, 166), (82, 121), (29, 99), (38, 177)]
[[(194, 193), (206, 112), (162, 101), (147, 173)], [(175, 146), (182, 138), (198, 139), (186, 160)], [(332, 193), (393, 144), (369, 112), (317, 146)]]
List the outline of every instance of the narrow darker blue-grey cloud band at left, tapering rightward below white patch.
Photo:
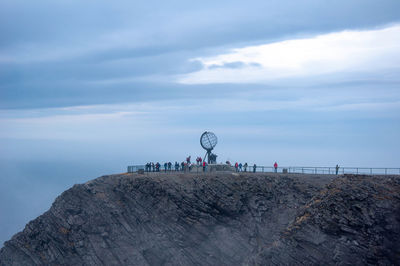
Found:
[[(251, 88), (261, 89), (268, 86), (251, 85)], [(91, 84), (73, 80), (54, 81), (45, 85), (41, 82), (19, 83), (0, 90), (0, 109), (185, 100), (193, 98), (194, 95), (198, 99), (215, 99), (242, 93), (246, 89), (248, 90), (249, 86), (243, 84), (181, 85), (134, 80), (115, 84)]]

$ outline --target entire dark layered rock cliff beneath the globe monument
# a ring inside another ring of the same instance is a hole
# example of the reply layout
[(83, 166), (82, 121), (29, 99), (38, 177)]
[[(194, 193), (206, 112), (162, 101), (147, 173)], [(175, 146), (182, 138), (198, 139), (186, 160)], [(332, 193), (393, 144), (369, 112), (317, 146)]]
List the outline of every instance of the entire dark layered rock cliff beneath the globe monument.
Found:
[(400, 178), (103, 176), (5, 242), (0, 265), (398, 264)]

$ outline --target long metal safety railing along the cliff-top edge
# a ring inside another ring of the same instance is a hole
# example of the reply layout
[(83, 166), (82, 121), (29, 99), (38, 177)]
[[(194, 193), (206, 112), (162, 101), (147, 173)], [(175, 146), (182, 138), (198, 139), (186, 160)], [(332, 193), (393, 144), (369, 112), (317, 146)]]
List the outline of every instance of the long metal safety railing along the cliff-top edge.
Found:
[[(134, 173), (138, 170), (143, 169), (146, 171), (145, 165), (131, 165), (128, 166), (128, 173)], [(184, 169), (189, 171), (188, 168)], [(160, 172), (164, 172), (165, 169), (163, 166), (159, 169)], [(174, 165), (172, 165), (172, 169), (167, 172), (175, 171)], [(182, 168), (179, 166), (178, 171), (182, 171)], [(197, 166), (193, 164), (193, 168), (191, 172), (201, 172), (201, 166)], [(155, 169), (151, 169), (150, 172), (155, 172)], [(298, 174), (336, 174), (336, 167), (312, 167), (312, 166), (285, 166), (278, 167), (275, 169), (272, 166), (248, 166), (244, 168), (242, 166), (241, 172), (257, 172), (257, 173), (298, 173)], [(400, 175), (400, 168), (383, 168), (383, 167), (339, 167), (337, 174), (366, 174), (366, 175)]]

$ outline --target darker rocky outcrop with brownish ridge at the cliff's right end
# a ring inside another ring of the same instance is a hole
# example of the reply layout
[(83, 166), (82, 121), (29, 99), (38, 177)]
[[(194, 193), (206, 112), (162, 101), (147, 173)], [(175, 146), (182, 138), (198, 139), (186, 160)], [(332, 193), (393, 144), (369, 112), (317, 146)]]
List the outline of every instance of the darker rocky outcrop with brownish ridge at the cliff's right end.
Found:
[(337, 178), (250, 264), (399, 265), (399, 177)]

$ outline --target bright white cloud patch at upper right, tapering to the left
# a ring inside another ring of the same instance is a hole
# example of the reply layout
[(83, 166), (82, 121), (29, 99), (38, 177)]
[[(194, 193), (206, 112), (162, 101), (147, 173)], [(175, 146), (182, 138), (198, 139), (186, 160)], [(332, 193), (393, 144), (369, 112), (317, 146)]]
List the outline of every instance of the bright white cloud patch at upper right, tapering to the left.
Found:
[(400, 25), (248, 46), (194, 60), (200, 61), (204, 69), (182, 75), (178, 82), (265, 83), (331, 73), (398, 72)]

